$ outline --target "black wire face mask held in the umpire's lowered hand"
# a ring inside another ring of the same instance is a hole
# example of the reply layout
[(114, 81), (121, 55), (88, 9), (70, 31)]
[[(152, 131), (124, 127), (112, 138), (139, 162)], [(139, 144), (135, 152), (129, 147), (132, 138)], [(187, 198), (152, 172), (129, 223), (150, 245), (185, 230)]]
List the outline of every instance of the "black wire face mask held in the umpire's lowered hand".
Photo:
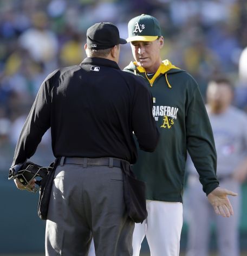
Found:
[(9, 169), (9, 179), (18, 178), (19, 181), (25, 186), (30, 180), (35, 179), (35, 187), (33, 192), (37, 192), (40, 188), (41, 180), (47, 176), (52, 167), (42, 167), (30, 161), (24, 164), (17, 164)]

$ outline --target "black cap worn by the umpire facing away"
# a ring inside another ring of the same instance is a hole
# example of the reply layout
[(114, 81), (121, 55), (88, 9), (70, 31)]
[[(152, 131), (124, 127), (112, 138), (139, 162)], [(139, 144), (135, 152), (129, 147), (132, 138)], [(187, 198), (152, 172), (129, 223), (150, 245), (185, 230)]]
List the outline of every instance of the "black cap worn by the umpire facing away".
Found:
[(119, 30), (113, 23), (96, 23), (87, 30), (88, 48), (107, 49), (119, 45), (119, 43), (124, 45), (127, 41), (119, 37)]

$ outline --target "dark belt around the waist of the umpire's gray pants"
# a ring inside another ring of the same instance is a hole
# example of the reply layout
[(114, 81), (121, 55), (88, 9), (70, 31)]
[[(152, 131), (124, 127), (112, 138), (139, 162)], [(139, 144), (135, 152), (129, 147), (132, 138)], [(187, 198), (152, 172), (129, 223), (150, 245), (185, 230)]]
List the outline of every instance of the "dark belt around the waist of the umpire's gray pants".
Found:
[(109, 167), (121, 167), (121, 159), (112, 157), (103, 158), (80, 158), (80, 157), (60, 157), (58, 158), (58, 164), (63, 166), (64, 164), (82, 165), (84, 168), (87, 166), (109, 166)]

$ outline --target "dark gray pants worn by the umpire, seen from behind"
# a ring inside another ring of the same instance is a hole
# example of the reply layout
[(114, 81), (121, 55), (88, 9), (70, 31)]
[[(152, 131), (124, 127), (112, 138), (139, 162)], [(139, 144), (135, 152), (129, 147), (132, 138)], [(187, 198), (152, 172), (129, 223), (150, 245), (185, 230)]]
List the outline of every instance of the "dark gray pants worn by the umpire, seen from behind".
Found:
[(57, 166), (46, 224), (46, 255), (132, 255), (134, 222), (127, 214), (118, 167)]

